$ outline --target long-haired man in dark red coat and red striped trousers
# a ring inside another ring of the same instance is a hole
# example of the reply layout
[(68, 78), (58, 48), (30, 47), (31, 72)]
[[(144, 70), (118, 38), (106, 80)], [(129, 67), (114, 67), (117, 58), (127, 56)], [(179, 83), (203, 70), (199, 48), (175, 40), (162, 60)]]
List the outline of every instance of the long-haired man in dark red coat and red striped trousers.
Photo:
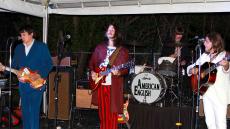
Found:
[[(105, 35), (106, 41), (96, 46), (89, 61), (92, 80), (97, 77), (97, 68), (114, 67), (128, 62), (128, 50), (121, 46), (117, 26), (110, 24)], [(110, 64), (116, 49), (117, 56)], [(127, 73), (128, 69), (112, 70), (93, 92), (92, 104), (98, 105), (100, 129), (117, 129), (118, 114), (123, 112), (123, 75)]]

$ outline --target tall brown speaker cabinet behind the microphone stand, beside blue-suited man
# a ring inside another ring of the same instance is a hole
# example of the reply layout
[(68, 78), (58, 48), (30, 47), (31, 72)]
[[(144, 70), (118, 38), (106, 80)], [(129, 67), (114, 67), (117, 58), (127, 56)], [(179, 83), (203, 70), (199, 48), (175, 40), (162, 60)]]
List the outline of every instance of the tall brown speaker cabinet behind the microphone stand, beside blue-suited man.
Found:
[[(58, 82), (58, 111), (57, 119), (69, 120), (70, 108), (71, 108), (71, 94), (72, 94), (72, 72), (70, 69), (63, 68), (59, 70), (59, 82)], [(49, 74), (49, 102), (48, 102), (48, 118), (55, 119), (55, 71)]]

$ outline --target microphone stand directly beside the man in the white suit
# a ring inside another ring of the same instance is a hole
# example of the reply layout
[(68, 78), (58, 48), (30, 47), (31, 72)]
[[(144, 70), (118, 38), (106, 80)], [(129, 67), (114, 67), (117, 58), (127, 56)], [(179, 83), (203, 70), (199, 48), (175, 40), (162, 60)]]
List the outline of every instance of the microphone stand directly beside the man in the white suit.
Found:
[[(198, 44), (196, 45), (196, 59), (198, 59), (197, 57), (197, 52), (199, 52), (199, 57), (201, 57), (201, 44), (202, 41), (198, 40)], [(199, 125), (199, 104), (200, 104), (200, 72), (201, 72), (201, 64), (200, 61), (199, 63), (199, 67), (198, 67), (198, 79), (197, 79), (197, 97), (196, 97), (196, 119), (195, 119), (195, 129), (198, 129), (198, 125)]]

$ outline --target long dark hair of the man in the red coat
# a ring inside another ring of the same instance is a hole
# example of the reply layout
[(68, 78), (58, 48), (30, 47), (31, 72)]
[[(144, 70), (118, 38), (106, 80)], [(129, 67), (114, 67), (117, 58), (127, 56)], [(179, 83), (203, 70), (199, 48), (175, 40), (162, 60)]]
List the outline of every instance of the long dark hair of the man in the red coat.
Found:
[[(115, 29), (114, 46), (119, 47), (119, 46), (122, 45), (122, 35), (121, 35), (120, 30), (119, 30), (119, 27), (118, 27), (116, 24), (109, 24), (109, 25), (107, 26), (107, 28), (106, 28), (106, 32), (107, 32), (107, 30), (108, 30), (108, 28), (109, 28), (110, 26), (113, 26), (114, 29)], [(109, 39), (108, 39), (108, 37), (107, 37), (106, 32), (105, 32), (105, 42), (108, 43), (108, 40), (109, 40)]]

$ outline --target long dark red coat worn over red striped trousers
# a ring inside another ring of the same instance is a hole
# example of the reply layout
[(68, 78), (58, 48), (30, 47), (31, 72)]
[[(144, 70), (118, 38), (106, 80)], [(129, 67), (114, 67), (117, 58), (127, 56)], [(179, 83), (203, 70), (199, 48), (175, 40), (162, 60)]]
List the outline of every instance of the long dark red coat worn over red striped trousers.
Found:
[[(104, 61), (106, 58), (107, 44), (98, 44), (91, 56), (89, 61), (89, 69), (95, 71), (96, 68)], [(121, 47), (113, 65), (117, 66), (128, 62), (128, 50)], [(128, 73), (127, 69), (120, 70), (121, 75), (112, 75), (112, 85), (111, 85), (111, 112), (122, 113), (123, 109), (123, 85), (124, 77), (123, 75)], [(97, 105), (97, 91), (93, 92), (92, 104)]]

